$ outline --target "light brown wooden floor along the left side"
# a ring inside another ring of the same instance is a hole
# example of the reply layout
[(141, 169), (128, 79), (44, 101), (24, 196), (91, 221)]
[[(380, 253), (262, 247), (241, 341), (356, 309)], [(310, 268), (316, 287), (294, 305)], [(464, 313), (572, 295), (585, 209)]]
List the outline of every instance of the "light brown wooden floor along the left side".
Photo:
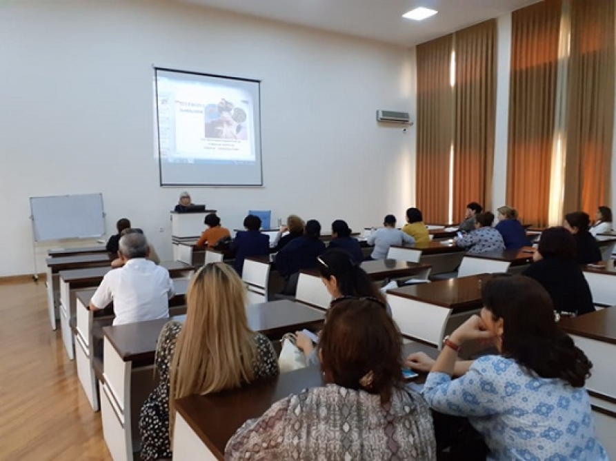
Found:
[(111, 460), (43, 282), (0, 285), (0, 460)]

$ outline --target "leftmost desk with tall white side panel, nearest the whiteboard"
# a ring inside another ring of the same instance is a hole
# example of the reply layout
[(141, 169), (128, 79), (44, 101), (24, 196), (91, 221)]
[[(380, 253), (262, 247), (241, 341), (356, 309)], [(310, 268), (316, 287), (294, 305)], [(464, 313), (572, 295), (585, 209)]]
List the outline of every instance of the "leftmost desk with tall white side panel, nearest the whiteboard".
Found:
[(107, 252), (88, 254), (71, 254), (69, 256), (55, 256), (47, 258), (47, 309), (51, 329), (56, 329), (57, 307), (56, 300), (60, 293), (59, 272), (68, 269), (86, 267), (105, 267), (110, 265), (111, 255)]

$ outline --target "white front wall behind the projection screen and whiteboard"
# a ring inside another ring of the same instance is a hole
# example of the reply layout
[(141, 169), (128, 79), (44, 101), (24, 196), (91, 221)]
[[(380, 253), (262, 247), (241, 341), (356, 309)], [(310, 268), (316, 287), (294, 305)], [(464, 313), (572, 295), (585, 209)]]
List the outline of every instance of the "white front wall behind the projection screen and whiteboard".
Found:
[(414, 127), (378, 126), (375, 110), (411, 110), (409, 54), (171, 2), (3, 2), (0, 276), (34, 270), (30, 196), (102, 192), (108, 233), (130, 217), (171, 258), (168, 211), (183, 188), (159, 187), (152, 65), (263, 81), (265, 186), (188, 189), (223, 225), (249, 208), (356, 229), (402, 218)]

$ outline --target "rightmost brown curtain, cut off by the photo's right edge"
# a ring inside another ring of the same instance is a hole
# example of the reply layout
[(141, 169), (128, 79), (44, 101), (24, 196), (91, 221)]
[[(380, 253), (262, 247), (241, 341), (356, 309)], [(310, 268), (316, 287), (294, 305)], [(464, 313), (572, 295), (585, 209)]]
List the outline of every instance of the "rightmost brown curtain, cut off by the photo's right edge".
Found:
[(608, 203), (614, 126), (615, 2), (573, 0), (564, 212)]

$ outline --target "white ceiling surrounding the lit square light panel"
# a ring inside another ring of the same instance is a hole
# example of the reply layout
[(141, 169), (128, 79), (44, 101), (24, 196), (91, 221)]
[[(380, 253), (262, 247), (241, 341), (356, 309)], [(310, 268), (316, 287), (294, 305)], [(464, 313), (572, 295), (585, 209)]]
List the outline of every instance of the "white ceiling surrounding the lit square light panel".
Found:
[[(538, 0), (183, 0), (286, 23), (396, 43), (417, 45), (499, 17)], [(424, 21), (402, 14), (424, 6), (439, 13)]]

